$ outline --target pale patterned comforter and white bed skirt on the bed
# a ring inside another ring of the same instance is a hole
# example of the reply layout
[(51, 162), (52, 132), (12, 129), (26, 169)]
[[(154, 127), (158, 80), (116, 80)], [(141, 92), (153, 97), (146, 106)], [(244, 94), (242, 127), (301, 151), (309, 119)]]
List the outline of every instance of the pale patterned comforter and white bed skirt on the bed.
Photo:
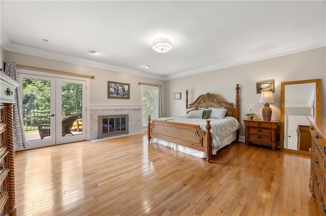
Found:
[[(172, 117), (172, 118), (159, 118), (162, 121), (174, 121), (180, 123), (196, 124), (206, 131), (205, 125), (207, 124), (207, 119), (187, 119), (186, 117)], [(211, 125), (211, 135), (212, 135), (212, 154), (216, 155), (216, 152), (229, 145), (236, 138), (236, 130), (240, 128), (240, 123), (234, 117), (224, 117), (224, 119), (208, 119)], [(206, 153), (201, 152), (189, 147), (178, 145), (173, 142), (158, 139), (155, 137), (151, 138), (151, 142), (159, 143), (164, 146), (168, 146), (178, 151), (185, 152), (187, 154), (192, 154), (200, 158), (206, 158)]]

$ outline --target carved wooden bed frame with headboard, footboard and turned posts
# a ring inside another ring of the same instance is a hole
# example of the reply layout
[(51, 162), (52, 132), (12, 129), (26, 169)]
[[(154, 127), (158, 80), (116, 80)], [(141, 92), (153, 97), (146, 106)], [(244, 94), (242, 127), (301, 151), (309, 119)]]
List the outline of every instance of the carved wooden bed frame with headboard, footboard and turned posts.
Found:
[[(188, 104), (188, 91), (186, 90), (185, 107), (207, 108), (207, 107), (227, 107), (226, 116), (232, 116), (239, 122), (239, 84), (236, 84), (235, 107), (233, 103), (226, 102), (218, 94), (202, 94), (193, 103)], [(209, 162), (212, 156), (212, 138), (210, 120), (206, 120), (206, 131), (199, 125), (178, 123), (171, 121), (151, 120), (148, 116), (147, 138), (150, 142), (151, 137), (164, 139), (177, 143), (182, 146), (190, 147), (202, 152), (206, 152), (206, 160)], [(239, 130), (236, 131), (236, 140), (239, 138)]]

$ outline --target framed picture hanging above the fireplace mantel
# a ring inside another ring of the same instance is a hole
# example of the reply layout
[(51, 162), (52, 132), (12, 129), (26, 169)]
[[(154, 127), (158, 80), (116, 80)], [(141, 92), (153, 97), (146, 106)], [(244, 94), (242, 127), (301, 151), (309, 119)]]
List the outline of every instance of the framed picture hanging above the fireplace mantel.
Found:
[(107, 98), (130, 99), (130, 84), (107, 81)]

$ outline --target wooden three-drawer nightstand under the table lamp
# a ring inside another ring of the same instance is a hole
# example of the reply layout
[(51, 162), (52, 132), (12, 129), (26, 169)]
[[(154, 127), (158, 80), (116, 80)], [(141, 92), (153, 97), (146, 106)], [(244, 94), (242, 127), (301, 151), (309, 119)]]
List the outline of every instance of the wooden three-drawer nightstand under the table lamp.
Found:
[(246, 127), (246, 146), (249, 143), (270, 145), (271, 150), (276, 150), (277, 128), (279, 121), (243, 120)]

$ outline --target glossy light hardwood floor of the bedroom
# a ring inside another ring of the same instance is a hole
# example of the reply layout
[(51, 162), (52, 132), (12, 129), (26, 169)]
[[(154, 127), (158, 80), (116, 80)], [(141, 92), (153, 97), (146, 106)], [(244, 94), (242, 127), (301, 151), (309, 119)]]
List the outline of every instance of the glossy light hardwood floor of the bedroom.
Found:
[(310, 159), (232, 143), (212, 162), (144, 134), (17, 152), (18, 215), (319, 215)]

